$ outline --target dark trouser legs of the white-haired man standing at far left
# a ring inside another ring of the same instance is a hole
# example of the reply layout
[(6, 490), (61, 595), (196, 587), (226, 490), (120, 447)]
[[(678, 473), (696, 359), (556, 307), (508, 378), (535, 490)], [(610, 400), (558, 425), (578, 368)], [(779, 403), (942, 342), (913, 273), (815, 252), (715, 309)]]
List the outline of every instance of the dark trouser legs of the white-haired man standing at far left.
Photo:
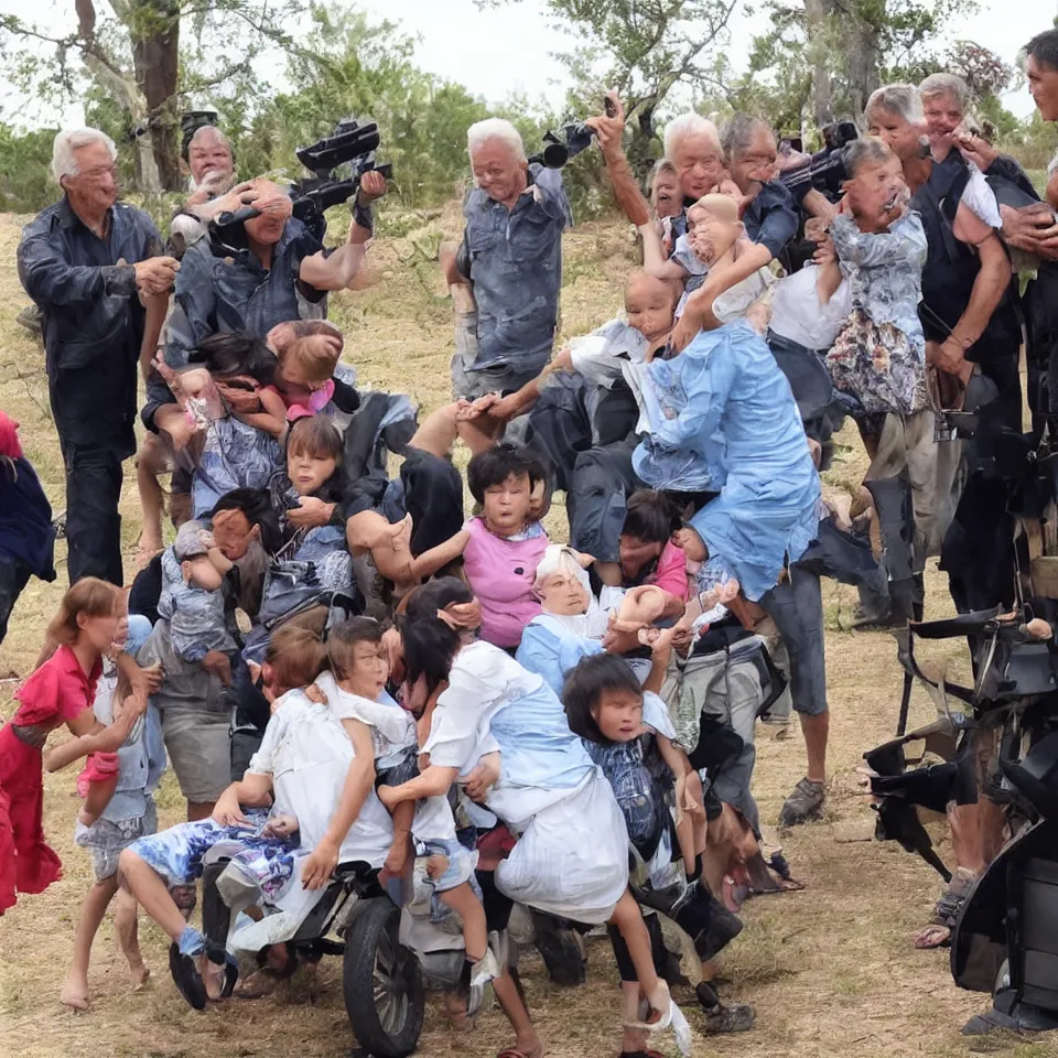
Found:
[(63, 435), (66, 464), (66, 569), (69, 583), (98, 576), (121, 586), (121, 455), (111, 447), (90, 447)]

